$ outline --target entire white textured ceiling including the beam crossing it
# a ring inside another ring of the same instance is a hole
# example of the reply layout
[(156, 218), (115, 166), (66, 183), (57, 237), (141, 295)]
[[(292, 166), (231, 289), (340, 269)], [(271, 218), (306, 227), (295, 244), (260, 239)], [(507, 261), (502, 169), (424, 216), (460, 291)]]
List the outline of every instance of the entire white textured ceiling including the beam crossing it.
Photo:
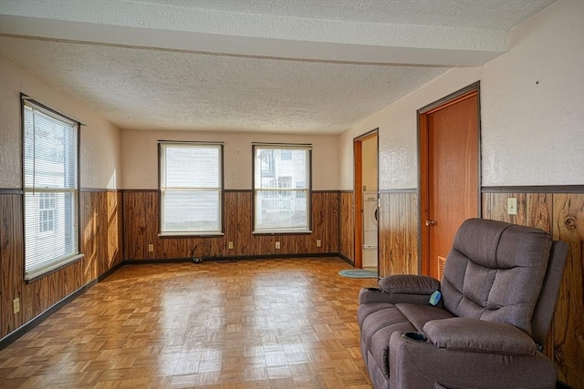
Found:
[(339, 133), (551, 3), (0, 0), (0, 54), (120, 128)]

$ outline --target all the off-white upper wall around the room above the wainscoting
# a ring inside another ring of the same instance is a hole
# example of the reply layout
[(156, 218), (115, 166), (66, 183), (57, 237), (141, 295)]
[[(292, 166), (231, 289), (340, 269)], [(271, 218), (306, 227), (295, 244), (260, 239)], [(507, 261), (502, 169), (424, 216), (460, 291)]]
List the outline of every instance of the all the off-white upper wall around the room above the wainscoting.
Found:
[(120, 140), (118, 128), (0, 56), (0, 188), (22, 186), (20, 92), (88, 125), (81, 131), (82, 187), (155, 189), (156, 141), (183, 139), (224, 141), (225, 189), (251, 188), (253, 141), (312, 143), (313, 188), (352, 189), (352, 139), (380, 128), (379, 189), (417, 188), (416, 110), (477, 80), (482, 185), (582, 185), (582, 15), (581, 1), (561, 0), (549, 6), (511, 31), (505, 55), (485, 67), (454, 68), (339, 138), (124, 130)]

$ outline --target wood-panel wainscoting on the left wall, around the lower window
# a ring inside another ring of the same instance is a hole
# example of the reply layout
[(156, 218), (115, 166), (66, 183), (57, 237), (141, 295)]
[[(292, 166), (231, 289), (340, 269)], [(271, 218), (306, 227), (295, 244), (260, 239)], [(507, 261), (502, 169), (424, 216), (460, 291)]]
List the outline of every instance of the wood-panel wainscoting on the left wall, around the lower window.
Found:
[[(79, 196), (80, 251), (85, 256), (26, 282), (23, 192), (0, 189), (0, 342), (122, 261), (121, 193), (81, 189)], [(16, 298), (20, 298), (20, 312), (13, 314)]]

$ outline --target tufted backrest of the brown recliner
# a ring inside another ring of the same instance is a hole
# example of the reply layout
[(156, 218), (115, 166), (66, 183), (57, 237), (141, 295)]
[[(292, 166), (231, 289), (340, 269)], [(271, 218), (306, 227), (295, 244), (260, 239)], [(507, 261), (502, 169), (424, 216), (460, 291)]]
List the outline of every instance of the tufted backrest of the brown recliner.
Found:
[(507, 322), (533, 335), (551, 246), (543, 230), (465, 220), (444, 265), (444, 307), (456, 316)]

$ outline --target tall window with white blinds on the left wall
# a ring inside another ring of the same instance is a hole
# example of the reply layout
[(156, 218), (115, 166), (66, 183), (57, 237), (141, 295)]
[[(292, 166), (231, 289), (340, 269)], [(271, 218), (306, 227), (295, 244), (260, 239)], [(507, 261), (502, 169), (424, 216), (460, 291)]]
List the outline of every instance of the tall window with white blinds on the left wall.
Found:
[(78, 251), (79, 123), (22, 97), (25, 279), (82, 257)]

